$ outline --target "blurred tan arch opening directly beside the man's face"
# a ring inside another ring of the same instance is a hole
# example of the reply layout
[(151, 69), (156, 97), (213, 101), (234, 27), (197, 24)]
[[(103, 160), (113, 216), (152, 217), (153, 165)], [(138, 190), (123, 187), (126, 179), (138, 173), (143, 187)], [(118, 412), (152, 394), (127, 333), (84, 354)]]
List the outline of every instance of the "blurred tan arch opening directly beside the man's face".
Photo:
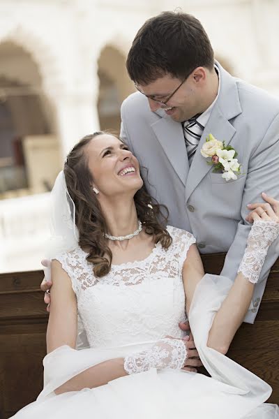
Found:
[(118, 46), (107, 43), (100, 51), (98, 77), (100, 128), (119, 132), (121, 103), (135, 88), (126, 71), (126, 54)]

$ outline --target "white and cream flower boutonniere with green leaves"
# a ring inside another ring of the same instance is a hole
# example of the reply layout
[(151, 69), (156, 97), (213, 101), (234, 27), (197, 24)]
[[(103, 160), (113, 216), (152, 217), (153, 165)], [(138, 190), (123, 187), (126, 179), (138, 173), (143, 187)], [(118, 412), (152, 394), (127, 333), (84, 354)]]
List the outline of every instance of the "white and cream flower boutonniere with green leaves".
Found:
[(211, 158), (207, 164), (214, 166), (213, 172), (222, 171), (222, 177), (226, 180), (236, 180), (237, 175), (241, 174), (241, 165), (236, 159), (237, 153), (234, 147), (230, 145), (225, 146), (225, 141), (218, 141), (212, 134), (206, 137), (206, 142), (201, 149), (203, 157)]

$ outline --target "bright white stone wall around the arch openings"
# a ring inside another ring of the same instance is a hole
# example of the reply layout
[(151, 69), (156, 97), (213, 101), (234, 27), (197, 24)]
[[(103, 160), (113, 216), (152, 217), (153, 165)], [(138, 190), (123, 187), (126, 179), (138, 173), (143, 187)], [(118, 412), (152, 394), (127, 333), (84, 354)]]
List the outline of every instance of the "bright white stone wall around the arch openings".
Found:
[[(97, 71), (102, 50), (111, 45), (125, 57), (148, 17), (178, 7), (201, 20), (216, 57), (225, 60), (235, 75), (279, 96), (278, 0), (0, 0), (0, 46), (14, 42), (38, 66), (38, 81), (53, 105), (62, 157), (82, 135), (99, 128)], [(111, 66), (113, 74), (113, 59)], [(18, 70), (9, 73), (13, 76)], [(24, 68), (20, 71), (24, 73)], [(0, 76), (6, 72), (0, 62)], [(130, 86), (121, 89), (126, 92)], [(0, 244), (6, 248), (0, 271), (39, 266), (46, 234), (45, 196), (22, 199), (0, 205)], [(40, 217), (29, 237), (20, 233), (23, 225), (17, 223), (23, 211), (30, 220), (34, 214)], [(8, 237), (6, 223), (17, 226)]]

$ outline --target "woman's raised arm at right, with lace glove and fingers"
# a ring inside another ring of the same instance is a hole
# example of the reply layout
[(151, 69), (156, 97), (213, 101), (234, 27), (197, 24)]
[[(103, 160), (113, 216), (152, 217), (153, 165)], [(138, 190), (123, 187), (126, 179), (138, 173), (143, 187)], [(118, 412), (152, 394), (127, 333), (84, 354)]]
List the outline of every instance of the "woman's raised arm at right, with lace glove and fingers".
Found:
[[(234, 284), (216, 313), (209, 331), (207, 345), (220, 353), (227, 353), (236, 330), (246, 315), (266, 253), (279, 234), (279, 202), (273, 200), (272, 203), (273, 207), (269, 205), (266, 207), (266, 211), (263, 211), (262, 207), (258, 205), (252, 205), (255, 210), (249, 215), (249, 219), (254, 221), (255, 225), (252, 226), (248, 236), (246, 253), (241, 261)], [(198, 260), (197, 254), (191, 248), (194, 249), (193, 246), (190, 247), (183, 268), (183, 282), (188, 300), (187, 310), (190, 307), (195, 287), (202, 279), (201, 261)], [(259, 253), (261, 254), (260, 258)], [(254, 263), (255, 261), (257, 263)], [(246, 269), (244, 269), (245, 267)]]

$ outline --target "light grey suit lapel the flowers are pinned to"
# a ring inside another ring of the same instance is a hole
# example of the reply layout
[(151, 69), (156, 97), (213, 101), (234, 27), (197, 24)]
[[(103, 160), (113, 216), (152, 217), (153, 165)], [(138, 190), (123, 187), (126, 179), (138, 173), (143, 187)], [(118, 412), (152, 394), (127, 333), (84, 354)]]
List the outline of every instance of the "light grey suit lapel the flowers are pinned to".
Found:
[(234, 134), (235, 128), (230, 124), (229, 119), (239, 115), (241, 105), (239, 103), (239, 93), (236, 87), (236, 82), (229, 73), (227, 73), (216, 61), (220, 71), (220, 93), (216, 104), (214, 105), (209, 121), (204, 127), (202, 138), (199, 141), (199, 146), (195, 152), (194, 159), (188, 172), (186, 182), (186, 200), (190, 197), (191, 193), (195, 190), (199, 182), (202, 181), (204, 176), (212, 170), (212, 166), (206, 163), (206, 159), (202, 156), (200, 150), (206, 141), (207, 135), (210, 133), (218, 141), (225, 141), (225, 145), (229, 145)]

